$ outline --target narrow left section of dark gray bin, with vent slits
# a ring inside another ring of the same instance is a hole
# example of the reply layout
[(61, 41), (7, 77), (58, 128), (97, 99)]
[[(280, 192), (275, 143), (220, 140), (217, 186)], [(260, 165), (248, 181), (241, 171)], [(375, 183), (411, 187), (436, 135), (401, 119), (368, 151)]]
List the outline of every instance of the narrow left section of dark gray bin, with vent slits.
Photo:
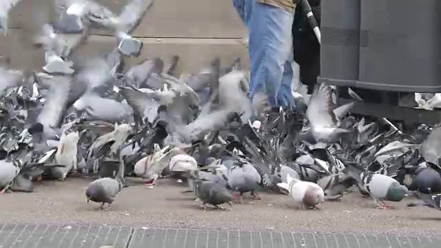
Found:
[(355, 86), (360, 55), (360, 0), (321, 1), (320, 79)]

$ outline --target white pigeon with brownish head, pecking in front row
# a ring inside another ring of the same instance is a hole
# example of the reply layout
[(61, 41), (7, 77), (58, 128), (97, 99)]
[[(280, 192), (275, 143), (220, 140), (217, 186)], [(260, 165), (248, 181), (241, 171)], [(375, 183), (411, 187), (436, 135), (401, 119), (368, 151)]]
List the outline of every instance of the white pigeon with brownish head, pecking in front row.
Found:
[(318, 209), (318, 204), (325, 198), (325, 193), (320, 186), (291, 178), (289, 174), (287, 174), (287, 183), (278, 183), (277, 185), (289, 192), (289, 195), (294, 199), (294, 203), (300, 209), (307, 209), (307, 207)]

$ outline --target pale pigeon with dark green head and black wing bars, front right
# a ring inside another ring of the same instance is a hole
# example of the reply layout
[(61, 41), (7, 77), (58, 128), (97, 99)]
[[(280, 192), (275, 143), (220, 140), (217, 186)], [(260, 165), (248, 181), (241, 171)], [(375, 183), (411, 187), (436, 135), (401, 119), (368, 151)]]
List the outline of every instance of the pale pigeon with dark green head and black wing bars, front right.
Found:
[(358, 187), (368, 192), (380, 209), (391, 209), (384, 200), (398, 202), (407, 196), (408, 189), (397, 180), (382, 174), (363, 171), (358, 165), (347, 163), (345, 174), (358, 182)]

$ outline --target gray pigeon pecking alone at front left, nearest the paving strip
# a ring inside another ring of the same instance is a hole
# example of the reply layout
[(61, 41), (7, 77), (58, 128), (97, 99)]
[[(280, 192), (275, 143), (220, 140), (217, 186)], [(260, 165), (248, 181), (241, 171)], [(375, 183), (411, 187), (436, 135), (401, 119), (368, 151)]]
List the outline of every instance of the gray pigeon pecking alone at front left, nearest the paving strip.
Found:
[(110, 205), (113, 203), (116, 195), (121, 192), (125, 183), (123, 158), (121, 158), (121, 147), (119, 149), (119, 169), (116, 178), (99, 178), (88, 185), (85, 196), (95, 203), (101, 203), (99, 209), (103, 209), (105, 203)]

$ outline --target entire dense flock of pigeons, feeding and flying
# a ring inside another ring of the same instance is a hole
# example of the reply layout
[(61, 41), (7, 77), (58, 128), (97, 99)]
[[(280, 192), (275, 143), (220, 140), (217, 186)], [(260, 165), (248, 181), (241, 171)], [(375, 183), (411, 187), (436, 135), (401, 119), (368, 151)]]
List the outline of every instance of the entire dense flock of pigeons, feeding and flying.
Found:
[[(9, 2), (2, 20), (17, 1)], [(99, 178), (85, 195), (100, 209), (130, 186), (129, 176), (152, 188), (158, 178), (185, 180), (183, 192), (203, 209), (263, 191), (318, 208), (351, 187), (381, 209), (411, 194), (420, 200), (409, 207), (441, 209), (441, 127), (400, 130), (385, 118), (349, 115), (353, 103), (336, 107), (327, 85), (310, 99), (294, 92), (296, 110), (267, 106), (264, 94), (251, 101), (239, 59), (229, 68), (214, 59), (196, 75), (178, 72), (178, 56), (125, 68), (143, 47), (130, 33), (151, 4), (131, 0), (116, 16), (93, 1), (65, 1), (58, 11), (83, 32), (66, 41), (43, 23), (34, 37), (45, 51), (42, 71), (0, 68), (1, 193), (92, 174)], [(114, 31), (114, 50), (76, 56), (96, 28)]]

